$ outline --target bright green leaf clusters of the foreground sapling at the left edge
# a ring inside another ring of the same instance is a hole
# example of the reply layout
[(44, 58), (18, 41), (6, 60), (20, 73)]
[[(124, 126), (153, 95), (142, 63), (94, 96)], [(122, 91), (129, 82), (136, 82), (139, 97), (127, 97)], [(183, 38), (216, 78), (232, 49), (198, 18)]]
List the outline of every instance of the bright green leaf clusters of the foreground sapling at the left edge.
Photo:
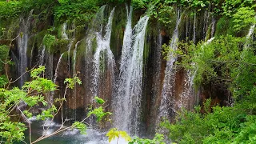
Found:
[[(11, 120), (17, 116), (14, 114), (14, 110), (17, 109), (22, 113), (18, 108), (18, 103), (26, 102), (28, 107), (36, 106), (40, 102), (46, 105), (46, 101), (41, 93), (46, 94), (50, 90), (56, 90), (56, 85), (54, 85), (53, 82), (40, 78), (40, 74), (42, 74), (44, 70), (45, 68), (43, 66), (32, 70), (31, 77), (33, 80), (26, 82), (26, 84), (22, 86), (22, 90), (18, 87), (14, 87), (10, 90), (4, 88), (0, 89), (0, 135), (7, 143), (22, 141), (24, 138), (23, 132), (26, 130), (25, 124)], [(54, 107), (44, 110), (38, 117), (42, 119), (51, 118), (53, 117), (51, 112), (54, 110), (56, 110)], [(25, 110), (24, 114), (28, 117), (31, 116), (28, 110)]]

